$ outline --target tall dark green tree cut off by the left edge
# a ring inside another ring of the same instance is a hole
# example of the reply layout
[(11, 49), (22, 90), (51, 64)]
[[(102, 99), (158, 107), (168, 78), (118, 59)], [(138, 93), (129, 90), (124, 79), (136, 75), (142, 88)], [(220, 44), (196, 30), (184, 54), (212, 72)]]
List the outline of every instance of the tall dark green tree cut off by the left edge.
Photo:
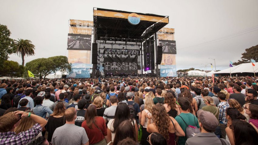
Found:
[(10, 38), (10, 35), (11, 32), (7, 26), (0, 24), (0, 67), (9, 58), (8, 55), (15, 52), (14, 41)]

